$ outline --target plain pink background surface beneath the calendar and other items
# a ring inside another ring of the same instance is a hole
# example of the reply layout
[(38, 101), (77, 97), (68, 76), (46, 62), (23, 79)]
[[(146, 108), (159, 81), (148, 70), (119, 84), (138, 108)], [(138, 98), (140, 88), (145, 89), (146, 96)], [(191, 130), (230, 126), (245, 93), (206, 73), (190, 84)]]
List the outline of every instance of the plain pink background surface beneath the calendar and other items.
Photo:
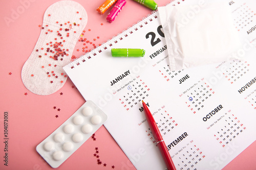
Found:
[[(70, 79), (57, 92), (42, 96), (30, 92), (23, 84), (21, 71), (40, 34), (46, 9), (57, 1), (1, 1), (1, 85), (0, 85), (0, 169), (51, 169), (36, 152), (36, 145), (57, 129), (85, 102)], [(152, 11), (127, 0), (113, 23), (96, 9), (103, 0), (76, 0), (88, 14), (83, 38), (77, 41), (72, 55), (79, 57), (94, 46), (111, 39)], [(168, 0), (155, 0), (158, 6)], [(10, 22), (6, 21), (7, 18)], [(90, 42), (92, 44), (90, 44)], [(86, 48), (87, 47), (87, 48)], [(54, 109), (56, 107), (56, 109)], [(60, 109), (59, 111), (57, 109)], [(4, 165), (4, 112), (8, 112), (8, 166)], [(55, 117), (58, 115), (58, 117)], [(209, 146), (210, 147), (210, 146)], [(256, 142), (224, 169), (255, 169)], [(96, 153), (98, 151), (98, 153)], [(94, 154), (99, 157), (95, 157)], [(101, 164), (98, 164), (98, 159)], [(135, 169), (110, 133), (102, 126), (58, 169)]]

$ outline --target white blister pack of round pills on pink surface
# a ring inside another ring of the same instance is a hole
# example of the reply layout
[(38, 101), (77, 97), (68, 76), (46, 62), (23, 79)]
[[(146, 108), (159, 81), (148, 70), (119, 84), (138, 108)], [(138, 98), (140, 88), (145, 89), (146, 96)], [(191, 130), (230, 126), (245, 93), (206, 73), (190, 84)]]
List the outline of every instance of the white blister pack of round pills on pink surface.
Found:
[(107, 118), (108, 116), (92, 101), (87, 101), (65, 123), (39, 143), (36, 151), (56, 168), (89, 139)]

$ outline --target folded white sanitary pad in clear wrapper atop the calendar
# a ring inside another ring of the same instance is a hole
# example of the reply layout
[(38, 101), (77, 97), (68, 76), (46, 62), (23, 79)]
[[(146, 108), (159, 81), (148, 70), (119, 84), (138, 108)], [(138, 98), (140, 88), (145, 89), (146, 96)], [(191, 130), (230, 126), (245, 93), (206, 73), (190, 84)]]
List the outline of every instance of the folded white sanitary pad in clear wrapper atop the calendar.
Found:
[(159, 7), (170, 70), (241, 59), (238, 32), (228, 3)]

